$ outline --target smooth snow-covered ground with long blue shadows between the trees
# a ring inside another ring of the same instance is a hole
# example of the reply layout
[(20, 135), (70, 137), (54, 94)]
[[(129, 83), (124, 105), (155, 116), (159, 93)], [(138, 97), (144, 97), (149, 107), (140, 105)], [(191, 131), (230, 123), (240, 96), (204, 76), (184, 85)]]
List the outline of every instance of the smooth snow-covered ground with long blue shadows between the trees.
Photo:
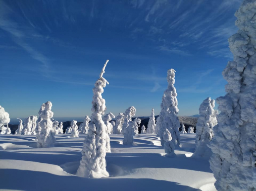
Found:
[(181, 135), (176, 158), (165, 157), (154, 134), (134, 136), (123, 145), (123, 135), (110, 135), (108, 178), (74, 175), (81, 160), (85, 134), (56, 135), (55, 147), (37, 148), (35, 135), (0, 137), (0, 190), (216, 190), (208, 160), (190, 158), (195, 134)]

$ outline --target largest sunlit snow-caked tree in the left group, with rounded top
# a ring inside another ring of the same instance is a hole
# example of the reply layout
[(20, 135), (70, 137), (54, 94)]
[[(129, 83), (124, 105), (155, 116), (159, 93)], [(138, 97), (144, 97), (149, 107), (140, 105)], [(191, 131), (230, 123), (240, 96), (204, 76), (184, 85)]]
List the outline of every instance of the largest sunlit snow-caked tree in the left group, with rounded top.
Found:
[(55, 144), (55, 132), (53, 130), (53, 122), (50, 118), (53, 118), (54, 113), (51, 111), (53, 107), (52, 102), (44, 103), (43, 110), (40, 109), (38, 112), (41, 117), (41, 121), (39, 122), (39, 126), (41, 128), (41, 132), (38, 136), (37, 147), (52, 147)]

